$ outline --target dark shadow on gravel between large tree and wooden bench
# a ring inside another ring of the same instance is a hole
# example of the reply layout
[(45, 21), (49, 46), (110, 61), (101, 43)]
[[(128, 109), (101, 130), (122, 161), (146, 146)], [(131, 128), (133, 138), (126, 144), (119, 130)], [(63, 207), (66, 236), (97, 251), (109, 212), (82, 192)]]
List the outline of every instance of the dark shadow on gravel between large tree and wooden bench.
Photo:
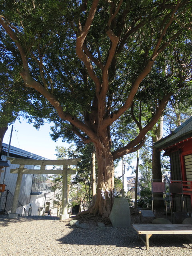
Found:
[[(106, 245), (146, 250), (146, 246), (135, 230), (130, 228), (107, 227), (104, 231), (95, 228), (89, 230), (72, 228), (72, 232), (59, 240), (62, 244)], [(192, 235), (153, 235), (150, 247), (180, 247), (192, 249)]]

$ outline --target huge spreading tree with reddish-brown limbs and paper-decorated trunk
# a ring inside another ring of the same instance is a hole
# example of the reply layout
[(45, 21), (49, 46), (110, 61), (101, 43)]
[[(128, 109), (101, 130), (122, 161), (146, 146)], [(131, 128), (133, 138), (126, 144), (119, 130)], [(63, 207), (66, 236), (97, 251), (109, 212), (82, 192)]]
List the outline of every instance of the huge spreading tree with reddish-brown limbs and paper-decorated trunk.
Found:
[[(14, 42), (24, 85), (54, 107), (49, 118), (55, 136), (94, 144), (98, 185), (90, 213), (109, 216), (114, 160), (142, 147), (170, 96), (183, 86), (179, 79), (174, 88), (164, 84), (155, 100), (154, 88), (143, 82), (162, 52), (189, 36), (191, 10), (190, 0), (2, 1), (2, 34)], [(145, 122), (135, 119), (135, 138), (114, 149), (110, 126), (133, 112), (145, 89), (155, 107)]]

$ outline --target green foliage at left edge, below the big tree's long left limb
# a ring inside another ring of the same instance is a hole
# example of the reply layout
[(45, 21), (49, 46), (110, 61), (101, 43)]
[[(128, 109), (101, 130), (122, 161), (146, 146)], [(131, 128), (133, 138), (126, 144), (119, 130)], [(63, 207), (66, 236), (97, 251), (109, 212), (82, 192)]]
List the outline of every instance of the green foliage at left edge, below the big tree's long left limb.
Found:
[(8, 125), (13, 124), (22, 116), (39, 128), (48, 113), (47, 102), (42, 95), (33, 88), (23, 86), (22, 77), (19, 75), (22, 62), (12, 42), (6, 41), (5, 45), (5, 41), (6, 38), (2, 34), (0, 42), (0, 151)]

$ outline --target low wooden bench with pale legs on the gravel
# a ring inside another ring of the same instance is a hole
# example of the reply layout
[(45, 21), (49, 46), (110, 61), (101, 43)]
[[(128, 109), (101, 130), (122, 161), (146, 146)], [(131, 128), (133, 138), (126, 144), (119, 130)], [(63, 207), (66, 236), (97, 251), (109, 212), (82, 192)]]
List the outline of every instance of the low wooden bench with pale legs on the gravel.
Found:
[[(140, 239), (149, 250), (149, 238), (153, 234), (192, 234), (192, 224), (140, 224), (133, 225)], [(145, 240), (141, 235), (145, 235)]]

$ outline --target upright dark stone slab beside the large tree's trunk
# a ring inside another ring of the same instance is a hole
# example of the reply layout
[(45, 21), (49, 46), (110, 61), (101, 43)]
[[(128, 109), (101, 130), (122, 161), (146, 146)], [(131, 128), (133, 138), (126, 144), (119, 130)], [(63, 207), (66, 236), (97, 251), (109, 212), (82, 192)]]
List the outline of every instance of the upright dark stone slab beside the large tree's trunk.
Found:
[(129, 202), (126, 198), (115, 198), (109, 218), (114, 228), (131, 226)]

